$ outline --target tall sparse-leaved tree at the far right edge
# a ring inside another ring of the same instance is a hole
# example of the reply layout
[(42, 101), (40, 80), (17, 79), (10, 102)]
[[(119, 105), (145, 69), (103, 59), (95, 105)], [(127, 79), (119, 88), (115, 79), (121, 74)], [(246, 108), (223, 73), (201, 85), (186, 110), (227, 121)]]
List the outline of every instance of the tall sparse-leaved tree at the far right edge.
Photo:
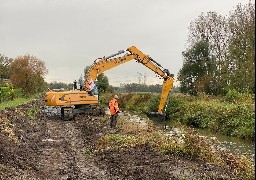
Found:
[(228, 18), (230, 29), (229, 86), (238, 92), (253, 92), (255, 84), (255, 6), (237, 5)]

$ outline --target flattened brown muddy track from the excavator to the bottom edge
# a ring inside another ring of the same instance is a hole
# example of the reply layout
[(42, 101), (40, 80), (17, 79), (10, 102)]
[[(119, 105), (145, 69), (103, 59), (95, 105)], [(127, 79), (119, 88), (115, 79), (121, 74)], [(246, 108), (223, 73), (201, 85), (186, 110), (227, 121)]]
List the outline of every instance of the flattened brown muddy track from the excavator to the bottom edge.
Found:
[(86, 157), (83, 134), (75, 121), (48, 119), (39, 171), (43, 179), (110, 179), (93, 159)]

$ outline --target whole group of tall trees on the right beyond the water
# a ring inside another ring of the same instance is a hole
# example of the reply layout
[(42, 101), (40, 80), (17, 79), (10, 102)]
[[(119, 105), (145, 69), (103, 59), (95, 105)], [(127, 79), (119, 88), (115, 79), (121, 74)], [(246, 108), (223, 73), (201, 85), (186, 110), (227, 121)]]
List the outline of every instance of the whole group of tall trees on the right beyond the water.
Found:
[(238, 4), (228, 16), (202, 13), (189, 26), (178, 74), (183, 93), (255, 93), (255, 4)]

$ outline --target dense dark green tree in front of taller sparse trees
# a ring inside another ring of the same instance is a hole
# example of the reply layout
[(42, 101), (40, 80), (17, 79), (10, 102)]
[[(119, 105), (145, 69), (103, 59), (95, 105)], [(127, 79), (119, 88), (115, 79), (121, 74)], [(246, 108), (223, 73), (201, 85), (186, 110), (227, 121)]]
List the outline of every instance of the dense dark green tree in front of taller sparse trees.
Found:
[(184, 62), (178, 74), (182, 93), (196, 95), (198, 92), (211, 93), (211, 77), (213, 74), (212, 59), (209, 57), (209, 44), (199, 41), (182, 53)]

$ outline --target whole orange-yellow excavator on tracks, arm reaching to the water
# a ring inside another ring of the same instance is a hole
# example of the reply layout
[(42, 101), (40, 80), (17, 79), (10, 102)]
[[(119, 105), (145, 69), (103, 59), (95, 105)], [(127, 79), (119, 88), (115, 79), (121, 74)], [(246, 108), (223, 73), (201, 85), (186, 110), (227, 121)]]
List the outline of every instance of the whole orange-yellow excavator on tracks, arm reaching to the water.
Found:
[(158, 112), (151, 114), (164, 115), (166, 102), (173, 87), (174, 75), (135, 46), (129, 47), (126, 51), (121, 50), (110, 56), (96, 59), (87, 71), (83, 90), (53, 91), (49, 89), (45, 94), (45, 105), (61, 107), (61, 117), (63, 119), (66, 116), (72, 118), (77, 113), (104, 115), (105, 111), (99, 105), (97, 85), (95, 85), (97, 76), (131, 60), (136, 60), (136, 62), (143, 64), (163, 78)]

